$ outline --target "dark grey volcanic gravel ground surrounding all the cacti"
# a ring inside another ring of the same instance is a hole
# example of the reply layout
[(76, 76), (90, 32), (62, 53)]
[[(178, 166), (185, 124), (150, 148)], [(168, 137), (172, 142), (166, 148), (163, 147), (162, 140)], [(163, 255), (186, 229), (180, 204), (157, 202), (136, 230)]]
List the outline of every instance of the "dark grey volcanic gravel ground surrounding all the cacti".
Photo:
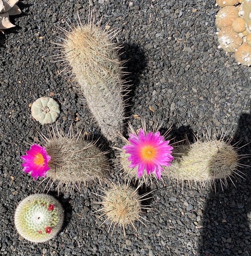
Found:
[[(87, 2), (87, 3), (86, 3)], [(132, 72), (130, 115), (145, 117), (147, 128), (158, 119), (163, 129), (173, 125), (174, 136), (185, 133), (202, 135), (207, 127), (217, 134), (234, 134), (233, 143), (250, 142), (250, 68), (238, 66), (233, 55), (217, 49), (214, 1), (166, 0), (89, 0), (24, 1), (22, 14), (12, 17), (16, 27), (0, 35), (0, 254), (1, 255), (251, 255), (251, 178), (235, 180), (236, 188), (216, 193), (210, 188), (167, 184), (152, 193), (155, 211), (146, 211), (148, 228), (136, 223), (139, 235), (127, 227), (115, 228), (111, 237), (104, 219), (91, 215), (98, 198), (91, 184), (82, 193), (59, 194), (65, 209), (65, 223), (58, 236), (44, 244), (31, 244), (16, 234), (13, 215), (24, 197), (41, 192), (21, 171), (20, 156), (27, 150), (25, 141), (40, 140), (46, 127), (30, 114), (29, 104), (41, 96), (52, 96), (61, 105), (58, 126), (67, 131), (83, 128), (94, 138), (100, 136), (95, 124), (81, 108), (76, 88), (64, 76), (56, 76), (61, 67), (51, 63), (56, 53), (50, 41), (57, 41), (53, 25), (66, 27), (63, 18), (74, 22), (76, 9), (87, 21), (88, 5), (96, 10), (102, 24), (122, 29), (114, 42), (125, 46), (122, 59), (130, 59)], [(78, 121), (76, 121), (76, 118)], [(139, 128), (140, 118), (131, 118)], [(101, 138), (105, 148), (111, 146)], [(116, 142), (122, 146), (120, 141)], [(120, 143), (120, 144), (119, 144)], [(251, 153), (250, 145), (240, 150)], [(110, 153), (113, 157), (114, 153)], [(250, 165), (245, 158), (242, 164)], [(116, 170), (110, 178), (115, 178)], [(105, 187), (109, 184), (104, 184)], [(154, 184), (156, 186), (156, 184)], [(57, 196), (53, 190), (52, 195)], [(144, 190), (141, 191), (144, 193)]]

